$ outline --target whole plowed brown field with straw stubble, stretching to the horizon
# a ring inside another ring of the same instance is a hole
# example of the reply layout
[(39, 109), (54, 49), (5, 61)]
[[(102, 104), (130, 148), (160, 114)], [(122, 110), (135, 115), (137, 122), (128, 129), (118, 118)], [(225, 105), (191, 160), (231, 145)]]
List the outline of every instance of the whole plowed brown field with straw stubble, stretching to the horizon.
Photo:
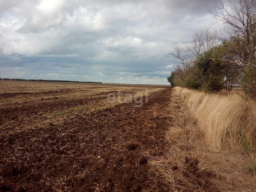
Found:
[(0, 191), (168, 191), (168, 87), (0, 81)]

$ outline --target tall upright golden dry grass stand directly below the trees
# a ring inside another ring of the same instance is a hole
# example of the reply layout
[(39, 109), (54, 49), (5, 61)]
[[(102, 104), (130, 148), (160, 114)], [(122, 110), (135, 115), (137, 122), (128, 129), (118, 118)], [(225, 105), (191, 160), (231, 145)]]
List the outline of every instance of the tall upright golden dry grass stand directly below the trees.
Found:
[[(206, 94), (175, 87), (197, 118), (197, 127), (212, 148), (240, 146), (252, 153), (256, 147), (256, 103), (238, 94)], [(231, 145), (230, 145), (231, 144)]]

